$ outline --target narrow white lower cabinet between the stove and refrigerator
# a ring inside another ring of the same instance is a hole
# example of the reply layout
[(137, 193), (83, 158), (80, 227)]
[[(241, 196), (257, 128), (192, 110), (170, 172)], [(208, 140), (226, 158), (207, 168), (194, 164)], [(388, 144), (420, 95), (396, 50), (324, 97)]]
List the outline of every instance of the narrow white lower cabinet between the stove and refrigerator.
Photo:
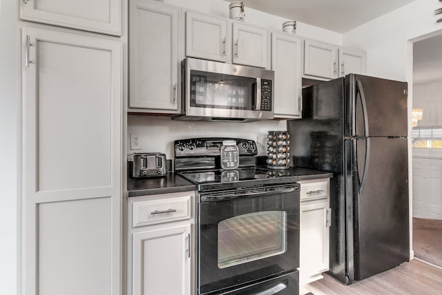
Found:
[(329, 179), (300, 181), (300, 285), (329, 269)]

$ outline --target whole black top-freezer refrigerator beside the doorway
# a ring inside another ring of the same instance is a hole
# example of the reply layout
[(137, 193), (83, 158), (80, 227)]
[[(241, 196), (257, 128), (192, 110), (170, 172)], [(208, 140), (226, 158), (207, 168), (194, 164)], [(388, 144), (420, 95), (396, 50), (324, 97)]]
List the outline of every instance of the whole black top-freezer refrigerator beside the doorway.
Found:
[(407, 83), (349, 74), (302, 90), (291, 166), (332, 172), (329, 274), (346, 285), (410, 259)]

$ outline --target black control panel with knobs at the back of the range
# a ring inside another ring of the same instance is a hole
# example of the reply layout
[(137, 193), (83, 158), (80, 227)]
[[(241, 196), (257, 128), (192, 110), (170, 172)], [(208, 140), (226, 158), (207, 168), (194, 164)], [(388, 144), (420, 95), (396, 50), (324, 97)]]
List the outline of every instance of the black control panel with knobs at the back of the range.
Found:
[(236, 141), (240, 156), (256, 156), (258, 154), (256, 142), (251, 139), (211, 137), (175, 141), (175, 158), (180, 156), (219, 156), (222, 141)]

